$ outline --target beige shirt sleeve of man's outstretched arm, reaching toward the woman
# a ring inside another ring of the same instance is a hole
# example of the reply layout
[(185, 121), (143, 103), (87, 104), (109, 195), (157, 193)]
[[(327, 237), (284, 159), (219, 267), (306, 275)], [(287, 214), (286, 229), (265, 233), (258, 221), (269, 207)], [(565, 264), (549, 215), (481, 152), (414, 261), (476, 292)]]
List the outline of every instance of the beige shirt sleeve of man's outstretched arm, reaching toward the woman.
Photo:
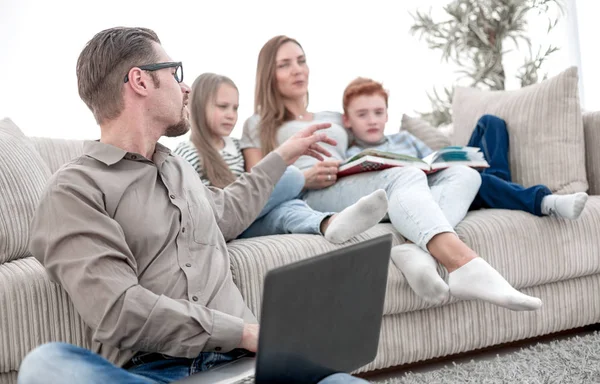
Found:
[(226, 241), (237, 238), (256, 220), (286, 168), (281, 156), (271, 152), (227, 187), (209, 188), (215, 219)]

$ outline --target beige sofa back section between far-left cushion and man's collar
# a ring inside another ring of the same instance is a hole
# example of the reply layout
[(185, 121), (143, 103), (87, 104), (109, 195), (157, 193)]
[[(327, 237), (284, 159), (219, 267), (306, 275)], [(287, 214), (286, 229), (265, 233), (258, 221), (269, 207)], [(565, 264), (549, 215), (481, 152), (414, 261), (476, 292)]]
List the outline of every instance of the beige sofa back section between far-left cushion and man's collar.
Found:
[(69, 160), (83, 154), (83, 140), (30, 137), (29, 141), (42, 156), (51, 173), (56, 172)]

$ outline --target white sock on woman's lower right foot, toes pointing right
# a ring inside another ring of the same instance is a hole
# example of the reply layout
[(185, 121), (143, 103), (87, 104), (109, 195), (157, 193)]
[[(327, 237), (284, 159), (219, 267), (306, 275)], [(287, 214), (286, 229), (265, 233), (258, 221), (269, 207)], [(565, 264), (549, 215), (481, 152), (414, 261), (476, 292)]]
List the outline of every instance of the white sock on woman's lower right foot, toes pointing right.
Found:
[(498, 271), (477, 257), (448, 277), (450, 294), (459, 299), (480, 299), (513, 311), (539, 309), (542, 301), (514, 289)]

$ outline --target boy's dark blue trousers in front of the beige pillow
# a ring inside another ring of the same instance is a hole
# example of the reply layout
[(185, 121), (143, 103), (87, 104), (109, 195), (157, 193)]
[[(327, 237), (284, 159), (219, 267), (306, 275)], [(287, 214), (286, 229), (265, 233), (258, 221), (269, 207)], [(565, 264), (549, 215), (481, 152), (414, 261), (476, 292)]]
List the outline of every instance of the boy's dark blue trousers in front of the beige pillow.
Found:
[(512, 182), (508, 165), (508, 130), (504, 120), (492, 115), (482, 116), (468, 145), (481, 148), (490, 164), (481, 173), (481, 187), (470, 209), (513, 209), (543, 216), (542, 199), (552, 192), (545, 185), (525, 188)]

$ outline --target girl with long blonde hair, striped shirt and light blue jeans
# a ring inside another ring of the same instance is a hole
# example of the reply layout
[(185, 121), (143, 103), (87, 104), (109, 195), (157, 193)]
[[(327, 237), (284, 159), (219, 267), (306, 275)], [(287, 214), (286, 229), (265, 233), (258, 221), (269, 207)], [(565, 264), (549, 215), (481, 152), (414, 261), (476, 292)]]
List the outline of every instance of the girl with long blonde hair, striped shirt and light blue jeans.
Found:
[[(191, 137), (174, 153), (196, 169), (205, 185), (227, 188), (245, 172), (239, 140), (230, 137), (237, 122), (237, 87), (226, 76), (204, 73), (192, 85), (189, 105)], [(377, 224), (387, 211), (385, 193), (374, 191), (339, 213), (317, 212), (297, 199), (304, 183), (302, 172), (288, 167), (257, 219), (240, 237), (307, 233), (343, 243)]]

